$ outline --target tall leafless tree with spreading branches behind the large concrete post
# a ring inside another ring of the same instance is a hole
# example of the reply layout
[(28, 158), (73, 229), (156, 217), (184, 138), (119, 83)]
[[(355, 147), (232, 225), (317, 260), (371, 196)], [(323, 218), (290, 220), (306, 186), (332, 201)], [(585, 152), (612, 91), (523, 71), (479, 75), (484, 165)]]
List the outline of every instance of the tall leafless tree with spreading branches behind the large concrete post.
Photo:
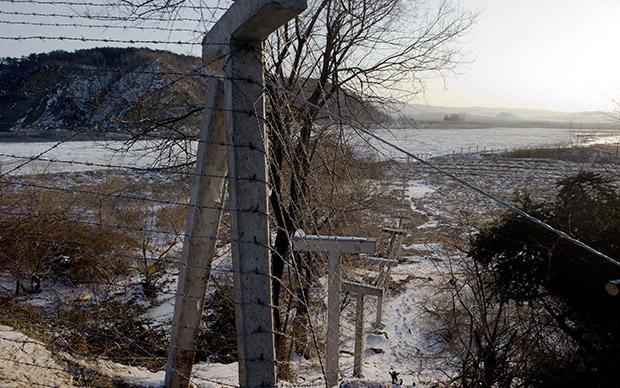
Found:
[[(171, 19), (184, 9), (204, 7), (216, 14), (222, 6), (200, 0), (112, 3), (128, 7), (132, 15), (167, 12)], [(277, 332), (283, 330), (281, 281), (292, 235), (300, 228), (316, 231), (337, 223), (336, 214), (318, 216), (317, 208), (327, 205), (317, 200), (318, 188), (311, 187), (312, 182), (332, 194), (344, 180), (360, 182), (359, 169), (352, 171), (355, 156), (347, 144), (350, 128), (324, 110), (363, 124), (385, 119), (391, 103), (421, 92), (426, 75), (450, 71), (460, 62), (455, 44), (474, 21), (475, 15), (449, 0), (311, 0), (303, 15), (267, 42)], [(300, 257), (294, 257), (291, 265), (301, 274), (296, 299), (306, 301), (312, 271)], [(306, 314), (307, 309), (297, 312)]]

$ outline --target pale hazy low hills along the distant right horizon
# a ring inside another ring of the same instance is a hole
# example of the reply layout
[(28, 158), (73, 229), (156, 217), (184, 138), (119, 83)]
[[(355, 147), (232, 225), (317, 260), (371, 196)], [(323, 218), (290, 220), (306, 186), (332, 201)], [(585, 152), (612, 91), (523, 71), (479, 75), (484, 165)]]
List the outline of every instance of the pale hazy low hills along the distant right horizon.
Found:
[(607, 112), (557, 112), (541, 109), (445, 107), (406, 104), (400, 116), (418, 121), (450, 121), (460, 119), (475, 123), (563, 123), (572, 126), (609, 126), (618, 122)]

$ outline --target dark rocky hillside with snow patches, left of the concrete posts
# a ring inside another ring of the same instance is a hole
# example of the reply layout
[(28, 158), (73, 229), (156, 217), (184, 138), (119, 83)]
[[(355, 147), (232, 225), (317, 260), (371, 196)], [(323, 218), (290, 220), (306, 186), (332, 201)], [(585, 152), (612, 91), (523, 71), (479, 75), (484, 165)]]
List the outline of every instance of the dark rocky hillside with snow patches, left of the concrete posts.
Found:
[(207, 79), (201, 74), (199, 58), (149, 49), (5, 58), (0, 131), (131, 132), (166, 120), (172, 124), (162, 131), (193, 131), (199, 114), (188, 113), (202, 103)]

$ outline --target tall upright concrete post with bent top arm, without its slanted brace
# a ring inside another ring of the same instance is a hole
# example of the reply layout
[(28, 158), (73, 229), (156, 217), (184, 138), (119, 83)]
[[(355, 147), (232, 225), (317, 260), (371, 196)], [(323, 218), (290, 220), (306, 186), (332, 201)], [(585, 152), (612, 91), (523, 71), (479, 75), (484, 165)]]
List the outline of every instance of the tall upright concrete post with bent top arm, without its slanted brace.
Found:
[(205, 36), (203, 59), (225, 55), (225, 106), (239, 385), (276, 384), (264, 128), (263, 41), (305, 0), (238, 0)]

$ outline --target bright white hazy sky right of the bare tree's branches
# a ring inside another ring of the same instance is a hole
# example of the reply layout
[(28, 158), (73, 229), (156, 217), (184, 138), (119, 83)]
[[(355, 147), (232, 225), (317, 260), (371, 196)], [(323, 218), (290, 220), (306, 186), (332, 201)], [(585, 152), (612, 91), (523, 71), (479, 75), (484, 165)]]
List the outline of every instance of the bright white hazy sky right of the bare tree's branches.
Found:
[(463, 0), (474, 62), (432, 82), (433, 105), (607, 109), (620, 97), (620, 0)]

